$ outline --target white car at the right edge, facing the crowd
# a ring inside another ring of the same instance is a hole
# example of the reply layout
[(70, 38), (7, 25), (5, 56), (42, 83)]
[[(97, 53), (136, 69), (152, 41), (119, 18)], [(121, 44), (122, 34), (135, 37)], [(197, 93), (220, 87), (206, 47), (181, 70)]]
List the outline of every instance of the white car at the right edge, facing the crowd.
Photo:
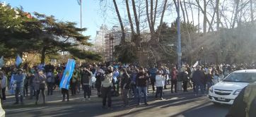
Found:
[(233, 104), (235, 97), (250, 82), (256, 82), (256, 69), (234, 71), (209, 88), (209, 99), (214, 104)]

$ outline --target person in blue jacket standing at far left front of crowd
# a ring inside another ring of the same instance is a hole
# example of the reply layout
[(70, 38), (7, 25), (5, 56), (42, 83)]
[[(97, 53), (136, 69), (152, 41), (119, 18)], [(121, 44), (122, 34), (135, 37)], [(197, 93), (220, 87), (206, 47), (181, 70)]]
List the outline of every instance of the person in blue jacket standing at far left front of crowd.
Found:
[(14, 104), (19, 103), (18, 99), (18, 94), (21, 95), (21, 104), (23, 104), (23, 86), (24, 86), (24, 80), (25, 80), (25, 75), (22, 73), (21, 69), (18, 69), (18, 74), (14, 75), (13, 80), (16, 82), (16, 89), (15, 89), (15, 98), (16, 102)]

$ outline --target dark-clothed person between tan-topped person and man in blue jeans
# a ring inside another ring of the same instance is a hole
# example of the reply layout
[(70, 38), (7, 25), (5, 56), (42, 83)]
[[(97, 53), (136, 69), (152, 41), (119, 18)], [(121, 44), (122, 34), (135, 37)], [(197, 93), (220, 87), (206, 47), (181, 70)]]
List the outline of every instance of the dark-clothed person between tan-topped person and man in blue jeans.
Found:
[(124, 107), (129, 106), (129, 96), (128, 92), (131, 85), (131, 79), (129, 77), (129, 74), (127, 73), (127, 70), (122, 69), (121, 73), (121, 90), (122, 90), (122, 100), (124, 101)]

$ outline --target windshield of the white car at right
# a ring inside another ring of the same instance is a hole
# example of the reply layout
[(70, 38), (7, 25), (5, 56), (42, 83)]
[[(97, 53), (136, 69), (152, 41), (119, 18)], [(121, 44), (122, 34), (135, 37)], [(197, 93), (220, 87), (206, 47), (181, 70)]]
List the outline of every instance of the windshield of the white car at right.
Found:
[(256, 82), (256, 73), (231, 73), (224, 82)]

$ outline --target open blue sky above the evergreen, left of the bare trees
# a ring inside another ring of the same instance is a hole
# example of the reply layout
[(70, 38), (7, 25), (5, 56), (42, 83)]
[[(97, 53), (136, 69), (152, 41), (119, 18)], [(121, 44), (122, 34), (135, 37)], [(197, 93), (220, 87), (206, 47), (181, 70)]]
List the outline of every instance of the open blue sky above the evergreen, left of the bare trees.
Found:
[[(80, 6), (77, 0), (0, 0), (12, 7), (23, 7), (23, 11), (44, 13), (47, 16), (55, 16), (59, 21), (71, 21), (80, 27)], [(100, 16), (98, 0), (82, 0), (82, 25), (86, 27), (83, 35), (91, 35), (91, 41), (95, 39), (96, 30), (103, 23)]]

